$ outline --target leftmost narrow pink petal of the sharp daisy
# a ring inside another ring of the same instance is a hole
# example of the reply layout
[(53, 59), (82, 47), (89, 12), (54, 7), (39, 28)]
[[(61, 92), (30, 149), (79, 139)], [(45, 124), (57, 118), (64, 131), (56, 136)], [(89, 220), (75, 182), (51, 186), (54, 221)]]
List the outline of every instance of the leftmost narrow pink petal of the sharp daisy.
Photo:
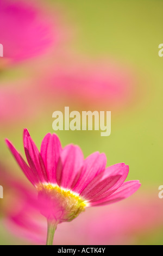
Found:
[(39, 183), (39, 177), (37, 173), (34, 172), (34, 170), (30, 169), (26, 162), (22, 159), (22, 156), (18, 151), (14, 148), (14, 146), (11, 144), (8, 139), (5, 140), (7, 143), (12, 155), (14, 155), (15, 160), (17, 161), (18, 165), (21, 167), (23, 173), (26, 175), (27, 179), (35, 186)]

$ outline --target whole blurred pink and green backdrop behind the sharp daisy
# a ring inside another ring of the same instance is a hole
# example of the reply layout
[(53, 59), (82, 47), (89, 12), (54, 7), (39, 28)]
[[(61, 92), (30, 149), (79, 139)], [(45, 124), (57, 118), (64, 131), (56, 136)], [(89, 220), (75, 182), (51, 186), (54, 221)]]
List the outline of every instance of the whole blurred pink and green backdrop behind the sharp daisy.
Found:
[(158, 46), (163, 42), (163, 2), (12, 2), (0, 1), (0, 244), (35, 243), (18, 235), (13, 223), (6, 224), (4, 209), (15, 208), (16, 199), (2, 178), (4, 169), (10, 178), (28, 181), (4, 139), (24, 155), (22, 132), (27, 127), (40, 147), (46, 133), (54, 132), (52, 113), (65, 106), (70, 111), (111, 111), (111, 135), (57, 131), (62, 146), (78, 144), (85, 157), (104, 152), (108, 166), (129, 164), (127, 180), (139, 179), (142, 186), (125, 201), (87, 209), (77, 220), (60, 224), (55, 243), (162, 244), (163, 58)]

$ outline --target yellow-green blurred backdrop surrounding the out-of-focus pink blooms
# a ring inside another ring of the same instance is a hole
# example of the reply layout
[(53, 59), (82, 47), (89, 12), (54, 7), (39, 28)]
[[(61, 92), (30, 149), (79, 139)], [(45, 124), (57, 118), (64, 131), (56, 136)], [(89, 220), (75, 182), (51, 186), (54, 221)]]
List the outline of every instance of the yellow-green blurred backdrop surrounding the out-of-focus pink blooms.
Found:
[[(75, 52), (80, 56), (88, 56), (93, 60), (98, 58), (115, 59), (122, 66), (128, 66), (135, 74), (136, 94), (126, 108), (110, 109), (109, 102), (105, 111), (111, 110), (111, 135), (101, 137), (100, 131), (57, 131), (62, 145), (78, 144), (84, 156), (93, 151), (104, 152), (108, 159), (107, 165), (118, 162), (129, 164), (128, 180), (139, 179), (143, 191), (154, 191), (158, 198), (158, 187), (162, 185), (162, 84), (163, 57), (158, 56), (158, 46), (163, 43), (162, 9), (163, 2), (159, 0), (141, 1), (41, 1), (51, 9), (59, 9), (62, 22), (70, 26), (72, 39), (65, 44), (64, 50)], [(62, 51), (62, 50), (61, 50)], [(15, 81), (24, 78), (32, 79), (39, 74), (39, 68), (52, 66), (55, 53), (47, 54), (41, 60), (35, 58), (23, 65), (4, 70), (1, 81)], [(36, 66), (36, 69), (33, 67)], [(30, 100), (29, 100), (30, 101)], [(43, 102), (41, 109), (34, 118), (24, 116), (18, 121), (1, 122), (1, 161), (17, 175), (22, 176), (20, 168), (12, 158), (4, 143), (9, 138), (15, 147), (23, 152), (22, 132), (27, 127), (36, 145), (40, 147), (42, 138), (52, 129), (52, 113), (65, 106), (60, 100), (56, 105)], [(132, 103), (133, 101), (133, 103)], [(48, 102), (48, 99), (47, 99)], [(68, 103), (68, 100), (66, 101)], [(30, 102), (29, 102), (30, 104)], [(70, 102), (70, 106), (72, 102)], [(84, 106), (83, 106), (84, 108)], [(97, 106), (96, 110), (100, 107)], [(71, 107), (78, 110), (78, 106)], [(85, 110), (85, 109), (84, 109)], [(89, 110), (89, 109), (87, 109)], [(12, 111), (12, 103), (11, 103)], [(135, 195), (133, 196), (134, 200)], [(5, 198), (4, 198), (5, 200)], [(128, 200), (128, 199), (127, 199)], [(159, 199), (160, 204), (161, 199)], [(163, 200), (163, 199), (162, 199)], [(86, 214), (86, 213), (85, 213)], [(20, 242), (1, 229), (0, 243)], [(161, 228), (151, 235), (137, 237), (135, 243), (162, 244)]]

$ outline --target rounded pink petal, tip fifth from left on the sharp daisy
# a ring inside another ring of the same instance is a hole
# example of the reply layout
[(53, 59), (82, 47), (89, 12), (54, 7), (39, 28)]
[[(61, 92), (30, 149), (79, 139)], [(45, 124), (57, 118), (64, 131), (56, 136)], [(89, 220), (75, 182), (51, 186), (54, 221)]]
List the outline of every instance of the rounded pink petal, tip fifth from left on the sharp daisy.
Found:
[(84, 190), (84, 188), (91, 182), (91, 180), (105, 169), (105, 166), (105, 154), (99, 154), (99, 152), (95, 152), (88, 156), (84, 161), (79, 181), (73, 188), (73, 191), (80, 194)]

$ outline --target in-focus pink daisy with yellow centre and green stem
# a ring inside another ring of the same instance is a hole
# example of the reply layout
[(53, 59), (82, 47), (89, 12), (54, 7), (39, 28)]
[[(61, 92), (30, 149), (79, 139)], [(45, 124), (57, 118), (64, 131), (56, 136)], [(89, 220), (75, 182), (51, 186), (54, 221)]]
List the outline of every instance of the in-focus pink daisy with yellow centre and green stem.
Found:
[(87, 207), (118, 202), (140, 187), (138, 180), (124, 182), (129, 172), (126, 164), (106, 168), (106, 156), (98, 152), (84, 160), (78, 146), (70, 144), (62, 149), (55, 134), (48, 133), (43, 138), (39, 152), (24, 129), (24, 150), (29, 165), (6, 142), (45, 206), (41, 207), (41, 214), (48, 220), (47, 244), (53, 243), (58, 223), (72, 221)]

